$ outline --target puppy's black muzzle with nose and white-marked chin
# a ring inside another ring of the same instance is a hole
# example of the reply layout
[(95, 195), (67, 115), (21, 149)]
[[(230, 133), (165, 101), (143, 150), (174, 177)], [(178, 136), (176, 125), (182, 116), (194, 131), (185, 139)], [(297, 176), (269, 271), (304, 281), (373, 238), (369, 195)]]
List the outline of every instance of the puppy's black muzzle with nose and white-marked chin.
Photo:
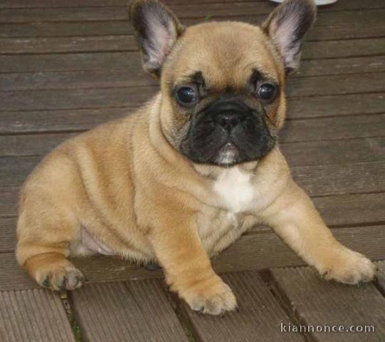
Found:
[(196, 163), (231, 166), (258, 160), (274, 145), (262, 115), (243, 103), (226, 102), (191, 121), (180, 150)]

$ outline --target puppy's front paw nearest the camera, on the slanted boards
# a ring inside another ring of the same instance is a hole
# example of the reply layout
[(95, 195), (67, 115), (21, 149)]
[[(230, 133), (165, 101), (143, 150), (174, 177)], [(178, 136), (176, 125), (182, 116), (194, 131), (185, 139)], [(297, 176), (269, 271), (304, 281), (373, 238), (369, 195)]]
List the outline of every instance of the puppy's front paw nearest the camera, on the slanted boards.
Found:
[(192, 310), (204, 314), (221, 315), (237, 306), (236, 296), (219, 276), (203, 284), (195, 284), (193, 288), (180, 293), (180, 296)]

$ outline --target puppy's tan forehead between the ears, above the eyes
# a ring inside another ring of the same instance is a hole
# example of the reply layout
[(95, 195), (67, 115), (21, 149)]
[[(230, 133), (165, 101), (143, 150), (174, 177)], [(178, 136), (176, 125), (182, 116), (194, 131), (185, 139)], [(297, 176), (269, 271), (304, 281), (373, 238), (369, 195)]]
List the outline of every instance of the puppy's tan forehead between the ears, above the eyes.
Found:
[(196, 72), (202, 73), (208, 88), (218, 89), (244, 88), (255, 71), (276, 83), (283, 77), (279, 58), (260, 28), (237, 22), (187, 28), (170, 60), (174, 84)]

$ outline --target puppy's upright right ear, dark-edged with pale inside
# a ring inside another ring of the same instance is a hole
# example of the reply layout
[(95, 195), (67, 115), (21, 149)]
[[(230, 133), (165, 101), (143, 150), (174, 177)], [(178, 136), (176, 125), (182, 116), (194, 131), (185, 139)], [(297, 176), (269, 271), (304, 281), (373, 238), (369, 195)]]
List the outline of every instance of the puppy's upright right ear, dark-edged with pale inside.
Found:
[(262, 25), (282, 56), (288, 73), (300, 66), (302, 41), (314, 24), (316, 13), (313, 0), (286, 0)]

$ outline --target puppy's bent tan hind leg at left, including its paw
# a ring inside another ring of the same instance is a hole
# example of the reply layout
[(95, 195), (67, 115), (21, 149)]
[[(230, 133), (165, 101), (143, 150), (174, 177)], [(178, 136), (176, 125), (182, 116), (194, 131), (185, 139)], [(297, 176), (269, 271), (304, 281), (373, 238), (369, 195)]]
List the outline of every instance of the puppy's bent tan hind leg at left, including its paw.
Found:
[(78, 224), (55, 205), (47, 204), (41, 210), (41, 201), (36, 204), (28, 203), (21, 209), (16, 249), (19, 264), (43, 287), (56, 291), (76, 289), (84, 277), (66, 258)]

